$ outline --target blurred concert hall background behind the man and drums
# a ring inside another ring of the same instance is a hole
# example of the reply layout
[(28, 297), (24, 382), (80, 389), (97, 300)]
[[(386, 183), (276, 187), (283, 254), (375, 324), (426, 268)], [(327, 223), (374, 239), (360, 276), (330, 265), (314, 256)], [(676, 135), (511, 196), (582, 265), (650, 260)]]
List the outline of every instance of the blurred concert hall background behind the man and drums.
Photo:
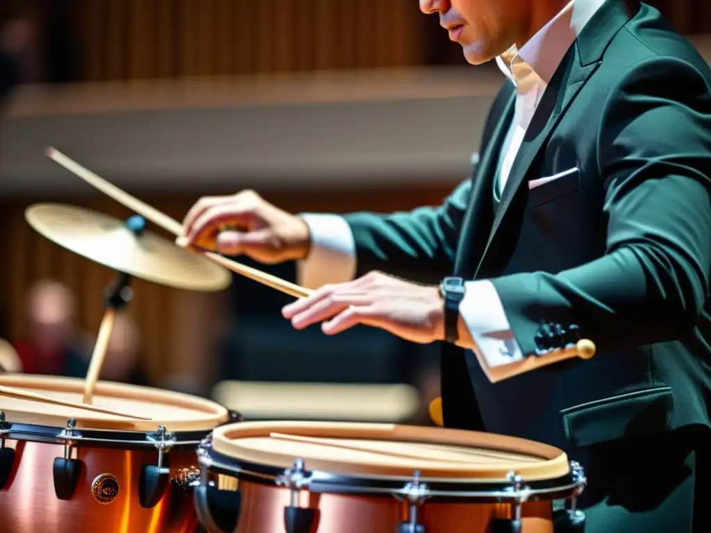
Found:
[[(711, 59), (711, 4), (650, 3)], [(246, 187), (292, 212), (407, 210), (467, 177), (502, 82), (493, 63), (465, 65), (415, 0), (2, 0), (0, 338), (28, 367), (83, 375), (113, 274), (37, 235), (23, 210), (57, 200), (131, 214), (45, 146), (178, 220), (202, 195)], [(260, 268), (294, 279), (292, 264)], [(437, 346), (296, 332), (279, 313), (289, 298), (247, 279), (224, 294), (134, 289), (106, 379), (272, 418), (298, 413), (286, 400), (279, 411), (289, 395), (265, 382), (401, 384), (375, 419), (429, 423)], [(323, 407), (340, 393), (319, 394)]]

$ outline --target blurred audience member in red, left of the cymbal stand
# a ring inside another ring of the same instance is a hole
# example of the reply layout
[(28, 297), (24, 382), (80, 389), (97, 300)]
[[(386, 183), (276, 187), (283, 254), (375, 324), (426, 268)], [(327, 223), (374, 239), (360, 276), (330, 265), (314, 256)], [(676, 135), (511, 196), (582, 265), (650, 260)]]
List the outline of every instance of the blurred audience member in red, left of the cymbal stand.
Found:
[(33, 286), (28, 301), (29, 335), (15, 346), (24, 372), (85, 377), (88, 357), (78, 346), (74, 318), (75, 301), (68, 287), (53, 280)]

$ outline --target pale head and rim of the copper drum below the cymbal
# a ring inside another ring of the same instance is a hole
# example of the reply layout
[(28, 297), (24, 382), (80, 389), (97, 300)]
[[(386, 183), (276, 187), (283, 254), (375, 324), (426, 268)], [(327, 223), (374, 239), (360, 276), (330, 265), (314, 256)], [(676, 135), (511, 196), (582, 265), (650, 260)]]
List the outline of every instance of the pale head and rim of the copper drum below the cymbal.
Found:
[[(0, 384), (81, 403), (85, 380), (55, 376), (0, 375)], [(149, 416), (151, 420), (128, 419), (74, 407), (0, 396), (0, 411), (4, 412), (6, 421), (34, 426), (65, 427), (68, 419), (75, 419), (77, 429), (147, 432), (156, 431), (156, 428), (162, 425), (172, 432), (210, 431), (229, 419), (227, 409), (207, 399), (112, 382), (97, 383), (92, 404), (127, 414)]]

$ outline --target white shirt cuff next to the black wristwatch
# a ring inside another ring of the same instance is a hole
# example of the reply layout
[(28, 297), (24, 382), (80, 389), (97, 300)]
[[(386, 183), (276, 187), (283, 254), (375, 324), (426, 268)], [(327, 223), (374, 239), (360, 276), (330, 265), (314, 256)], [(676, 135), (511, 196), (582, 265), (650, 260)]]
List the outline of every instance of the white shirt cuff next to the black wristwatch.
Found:
[(488, 367), (498, 367), (523, 359), (523, 352), (491, 281), (466, 282), (466, 294), (459, 303), (459, 316), (471, 333), (474, 352), (480, 362)]

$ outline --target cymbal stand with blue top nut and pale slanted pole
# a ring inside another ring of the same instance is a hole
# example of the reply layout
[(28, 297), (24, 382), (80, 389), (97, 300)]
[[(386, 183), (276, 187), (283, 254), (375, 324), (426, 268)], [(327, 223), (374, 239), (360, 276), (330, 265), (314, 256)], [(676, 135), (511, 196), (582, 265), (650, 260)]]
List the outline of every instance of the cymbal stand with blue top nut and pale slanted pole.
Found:
[[(144, 217), (134, 215), (126, 221), (126, 226), (134, 232), (137, 238), (143, 235), (146, 228), (146, 220)], [(97, 335), (94, 351), (92, 352), (89, 370), (84, 385), (84, 396), (82, 402), (91, 404), (94, 395), (94, 389), (101, 374), (102, 366), (106, 358), (106, 352), (109, 348), (111, 333), (114, 330), (114, 318), (116, 312), (126, 307), (133, 298), (131, 289), (131, 276), (124, 272), (117, 272), (117, 279), (114, 284), (107, 286), (105, 292), (105, 308), (104, 318), (102, 318), (99, 334)]]

